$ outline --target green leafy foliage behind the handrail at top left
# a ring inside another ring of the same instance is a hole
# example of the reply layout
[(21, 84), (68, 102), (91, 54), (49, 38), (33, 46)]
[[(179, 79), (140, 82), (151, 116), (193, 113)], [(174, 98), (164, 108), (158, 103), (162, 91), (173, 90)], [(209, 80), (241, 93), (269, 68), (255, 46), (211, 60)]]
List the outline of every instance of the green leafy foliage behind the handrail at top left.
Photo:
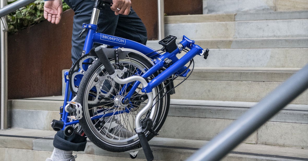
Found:
[[(15, 2), (16, 0), (8, 2), (8, 4)], [(22, 7), (7, 16), (7, 25), (9, 28), (8, 33), (12, 34), (18, 30), (22, 30), (26, 27), (39, 23), (44, 19), (44, 0), (37, 0), (29, 5)], [(70, 9), (69, 6), (63, 2), (63, 11)]]

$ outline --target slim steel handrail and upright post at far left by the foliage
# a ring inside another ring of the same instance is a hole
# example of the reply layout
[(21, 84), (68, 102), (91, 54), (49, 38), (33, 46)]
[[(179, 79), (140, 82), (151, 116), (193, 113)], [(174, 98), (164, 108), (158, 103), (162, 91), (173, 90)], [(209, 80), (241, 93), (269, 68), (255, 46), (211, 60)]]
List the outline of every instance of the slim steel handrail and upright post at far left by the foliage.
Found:
[(6, 16), (15, 10), (34, 2), (35, 0), (18, 0), (7, 5), (7, 0), (0, 0), (0, 49), (1, 49), (1, 113), (0, 130), (8, 129), (8, 109), (7, 109), (7, 23)]

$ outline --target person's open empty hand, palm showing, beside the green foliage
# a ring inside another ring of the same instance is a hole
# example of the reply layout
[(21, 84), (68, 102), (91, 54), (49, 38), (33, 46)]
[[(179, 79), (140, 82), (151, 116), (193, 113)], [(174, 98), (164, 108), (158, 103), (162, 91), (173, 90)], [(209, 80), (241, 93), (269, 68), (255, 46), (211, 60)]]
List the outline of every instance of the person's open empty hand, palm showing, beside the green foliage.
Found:
[(61, 20), (62, 0), (45, 1), (44, 18), (51, 23), (58, 24)]

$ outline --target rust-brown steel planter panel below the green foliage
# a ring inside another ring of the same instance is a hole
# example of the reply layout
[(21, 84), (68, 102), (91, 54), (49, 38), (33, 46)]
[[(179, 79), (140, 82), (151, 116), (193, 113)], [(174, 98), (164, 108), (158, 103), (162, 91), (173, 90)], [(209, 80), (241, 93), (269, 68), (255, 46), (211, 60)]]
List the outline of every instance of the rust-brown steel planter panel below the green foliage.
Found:
[(71, 67), (74, 12), (58, 25), (43, 21), (8, 36), (8, 98), (61, 95), (62, 69)]

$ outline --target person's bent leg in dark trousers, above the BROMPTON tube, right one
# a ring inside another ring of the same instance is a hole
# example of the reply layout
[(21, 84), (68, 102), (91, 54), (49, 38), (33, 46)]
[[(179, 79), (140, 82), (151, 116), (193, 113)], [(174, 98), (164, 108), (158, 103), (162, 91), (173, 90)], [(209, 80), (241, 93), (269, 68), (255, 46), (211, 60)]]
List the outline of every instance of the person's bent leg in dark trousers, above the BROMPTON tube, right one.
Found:
[(131, 11), (132, 13), (127, 16), (119, 16), (115, 36), (130, 39), (145, 45), (148, 40), (147, 29), (132, 7)]

